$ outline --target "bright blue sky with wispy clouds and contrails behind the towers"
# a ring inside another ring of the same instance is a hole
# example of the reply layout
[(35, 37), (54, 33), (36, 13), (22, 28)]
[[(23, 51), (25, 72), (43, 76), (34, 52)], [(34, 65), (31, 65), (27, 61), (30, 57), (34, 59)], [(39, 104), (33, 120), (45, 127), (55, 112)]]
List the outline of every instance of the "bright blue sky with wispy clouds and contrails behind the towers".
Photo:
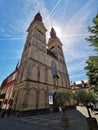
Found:
[(38, 11), (47, 41), (53, 26), (63, 43), (70, 81), (87, 79), (85, 61), (95, 52), (85, 38), (98, 12), (98, 0), (0, 0), (0, 84), (20, 61), (26, 30)]

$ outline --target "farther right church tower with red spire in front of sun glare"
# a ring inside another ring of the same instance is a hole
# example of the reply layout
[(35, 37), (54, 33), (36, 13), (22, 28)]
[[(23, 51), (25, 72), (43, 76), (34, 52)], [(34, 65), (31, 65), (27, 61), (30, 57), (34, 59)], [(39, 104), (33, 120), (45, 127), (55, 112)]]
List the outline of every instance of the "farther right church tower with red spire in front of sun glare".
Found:
[[(51, 52), (53, 52), (54, 55), (57, 57), (60, 71), (63, 70), (63, 73), (61, 74), (61, 76), (64, 77), (64, 79), (65, 79), (65, 82), (66, 82), (65, 86), (67, 86), (69, 88), (69, 86), (70, 86), (69, 76), (68, 76), (65, 58), (64, 58), (64, 54), (63, 54), (62, 43), (61, 43), (60, 39), (56, 36), (56, 31), (54, 30), (53, 27), (51, 28), (51, 31), (50, 31), (50, 39), (48, 41), (47, 46), (48, 46), (48, 49)], [(62, 86), (63, 86), (63, 84), (62, 84)]]

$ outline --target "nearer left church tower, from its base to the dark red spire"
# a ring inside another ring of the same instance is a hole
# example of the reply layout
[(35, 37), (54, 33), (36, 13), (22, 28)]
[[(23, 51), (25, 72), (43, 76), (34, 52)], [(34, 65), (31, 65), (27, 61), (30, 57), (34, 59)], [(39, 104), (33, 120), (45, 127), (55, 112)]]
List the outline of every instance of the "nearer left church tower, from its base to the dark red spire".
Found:
[(28, 35), (18, 69), (13, 93), (15, 111), (36, 111), (48, 107), (47, 90), (43, 89), (47, 81), (47, 67), (44, 65), (47, 63), (46, 31), (42, 16), (37, 13), (27, 30)]

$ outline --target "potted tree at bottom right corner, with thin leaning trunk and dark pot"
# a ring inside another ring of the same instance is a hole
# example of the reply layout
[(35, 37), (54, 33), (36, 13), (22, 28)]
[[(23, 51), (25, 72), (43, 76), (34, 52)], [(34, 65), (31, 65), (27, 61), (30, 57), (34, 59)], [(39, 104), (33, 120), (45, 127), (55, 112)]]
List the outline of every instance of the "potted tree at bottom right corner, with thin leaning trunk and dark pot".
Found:
[(93, 118), (90, 113), (90, 103), (93, 103), (94, 101), (94, 94), (91, 92), (86, 92), (84, 90), (77, 90), (76, 91), (76, 99), (79, 103), (82, 103), (88, 112), (89, 117), (87, 118), (88, 125), (90, 127), (90, 130), (97, 130), (97, 121), (96, 118)]

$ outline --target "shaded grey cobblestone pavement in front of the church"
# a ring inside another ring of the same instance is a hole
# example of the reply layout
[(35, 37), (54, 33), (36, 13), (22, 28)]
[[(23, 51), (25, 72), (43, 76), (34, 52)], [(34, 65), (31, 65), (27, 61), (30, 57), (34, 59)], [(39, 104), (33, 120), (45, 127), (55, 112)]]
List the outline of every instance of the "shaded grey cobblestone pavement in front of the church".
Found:
[(43, 128), (49, 128), (49, 130), (89, 130), (86, 118), (77, 110), (67, 110), (66, 115), (69, 117), (69, 126), (62, 127), (60, 119), (61, 113), (51, 113), (45, 115), (36, 115), (28, 117), (6, 117), (8, 120), (20, 121), (34, 126), (39, 126)]

